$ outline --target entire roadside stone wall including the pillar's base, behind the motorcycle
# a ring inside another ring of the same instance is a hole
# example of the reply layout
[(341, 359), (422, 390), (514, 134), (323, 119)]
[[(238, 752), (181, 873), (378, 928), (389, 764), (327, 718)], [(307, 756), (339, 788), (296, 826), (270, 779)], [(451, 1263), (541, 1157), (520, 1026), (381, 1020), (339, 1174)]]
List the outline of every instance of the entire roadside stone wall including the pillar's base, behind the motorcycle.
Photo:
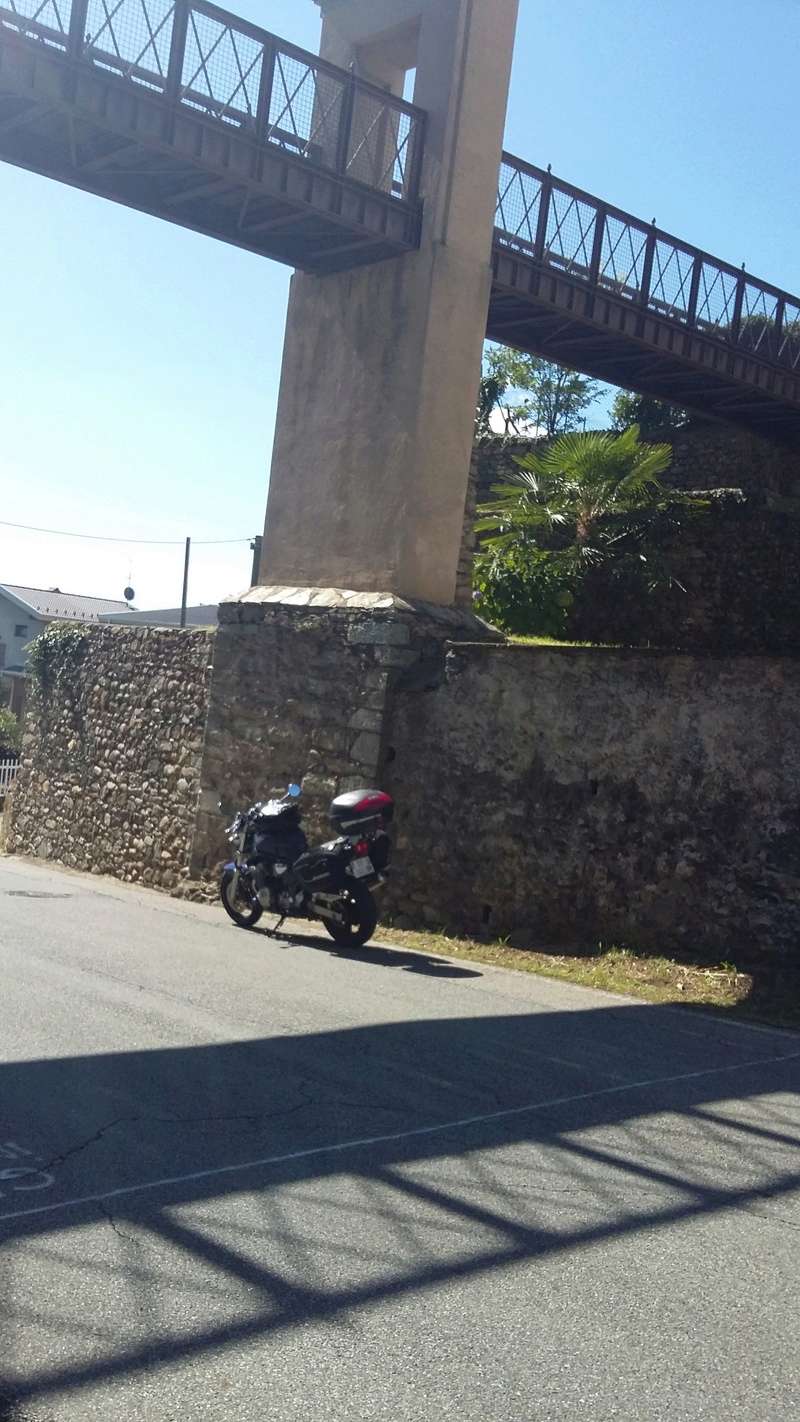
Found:
[(800, 658), (453, 641), (448, 616), (243, 600), (216, 634), (87, 629), (31, 698), (9, 848), (195, 892), (227, 853), (220, 799), (298, 779), (327, 838), (331, 798), (378, 785), (384, 916), (797, 947)]

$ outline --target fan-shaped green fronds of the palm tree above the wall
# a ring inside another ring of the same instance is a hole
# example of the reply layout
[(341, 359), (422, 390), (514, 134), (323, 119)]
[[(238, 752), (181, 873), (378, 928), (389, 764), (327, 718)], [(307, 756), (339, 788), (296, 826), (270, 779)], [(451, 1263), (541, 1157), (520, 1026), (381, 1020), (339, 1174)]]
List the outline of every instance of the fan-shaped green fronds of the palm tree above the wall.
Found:
[(477, 532), (490, 535), (483, 549), (503, 555), (521, 543), (558, 555), (575, 572), (600, 563), (679, 502), (659, 478), (671, 459), (671, 445), (641, 444), (638, 425), (622, 434), (560, 435), (493, 485), (494, 498), (477, 510)]

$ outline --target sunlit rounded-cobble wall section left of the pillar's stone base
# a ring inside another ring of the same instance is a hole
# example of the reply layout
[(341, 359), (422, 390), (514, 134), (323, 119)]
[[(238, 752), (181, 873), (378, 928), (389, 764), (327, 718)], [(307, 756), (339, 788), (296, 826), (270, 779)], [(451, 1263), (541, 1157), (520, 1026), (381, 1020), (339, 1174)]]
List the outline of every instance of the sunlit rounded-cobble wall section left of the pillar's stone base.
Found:
[(186, 876), (213, 634), (91, 627), (34, 685), (9, 849), (163, 889)]

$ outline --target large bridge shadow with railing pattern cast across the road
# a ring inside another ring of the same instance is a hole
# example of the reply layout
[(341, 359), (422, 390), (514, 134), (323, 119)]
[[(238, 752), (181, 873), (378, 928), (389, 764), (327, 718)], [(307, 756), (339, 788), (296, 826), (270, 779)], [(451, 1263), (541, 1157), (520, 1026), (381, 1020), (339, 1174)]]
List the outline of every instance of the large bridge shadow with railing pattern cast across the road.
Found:
[(799, 1086), (800, 1038), (648, 1005), (4, 1064), (0, 1418), (763, 1210)]

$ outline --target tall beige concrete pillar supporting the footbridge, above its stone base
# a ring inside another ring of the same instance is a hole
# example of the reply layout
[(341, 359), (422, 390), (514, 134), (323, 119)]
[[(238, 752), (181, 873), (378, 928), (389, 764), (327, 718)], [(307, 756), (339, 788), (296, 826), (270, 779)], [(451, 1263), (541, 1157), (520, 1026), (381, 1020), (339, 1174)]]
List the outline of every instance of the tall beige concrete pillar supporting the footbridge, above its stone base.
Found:
[(419, 252), (291, 283), (261, 584), (453, 603), (519, 0), (317, 0), (428, 112)]

